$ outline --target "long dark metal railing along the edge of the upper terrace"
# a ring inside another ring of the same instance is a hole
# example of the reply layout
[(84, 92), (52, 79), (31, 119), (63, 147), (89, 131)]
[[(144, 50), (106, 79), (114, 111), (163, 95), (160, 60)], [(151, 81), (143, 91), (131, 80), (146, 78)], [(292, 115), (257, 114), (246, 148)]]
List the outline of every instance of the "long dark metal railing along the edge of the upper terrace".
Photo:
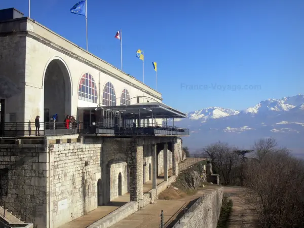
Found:
[(104, 123), (70, 123), (41, 122), (40, 128), (36, 129), (35, 123), (9, 122), (4, 124), (4, 130), (0, 137), (16, 136), (57, 136), (72, 134), (107, 134), (107, 135), (189, 135), (189, 129), (159, 124), (118, 124)]

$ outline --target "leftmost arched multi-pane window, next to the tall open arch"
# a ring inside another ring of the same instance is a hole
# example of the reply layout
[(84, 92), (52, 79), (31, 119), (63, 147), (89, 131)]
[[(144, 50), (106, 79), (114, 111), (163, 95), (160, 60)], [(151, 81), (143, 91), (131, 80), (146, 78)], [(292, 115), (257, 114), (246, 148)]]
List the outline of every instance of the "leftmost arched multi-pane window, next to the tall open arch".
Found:
[(97, 103), (96, 83), (89, 73), (85, 73), (80, 80), (78, 99)]

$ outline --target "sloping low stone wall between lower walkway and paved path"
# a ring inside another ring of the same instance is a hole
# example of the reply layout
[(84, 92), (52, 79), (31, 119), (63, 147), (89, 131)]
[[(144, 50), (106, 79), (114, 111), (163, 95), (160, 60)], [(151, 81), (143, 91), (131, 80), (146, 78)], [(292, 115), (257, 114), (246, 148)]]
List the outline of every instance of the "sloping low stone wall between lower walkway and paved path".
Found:
[(223, 187), (207, 192), (207, 196), (203, 198), (201, 204), (193, 212), (187, 214), (175, 228), (216, 228), (222, 197)]

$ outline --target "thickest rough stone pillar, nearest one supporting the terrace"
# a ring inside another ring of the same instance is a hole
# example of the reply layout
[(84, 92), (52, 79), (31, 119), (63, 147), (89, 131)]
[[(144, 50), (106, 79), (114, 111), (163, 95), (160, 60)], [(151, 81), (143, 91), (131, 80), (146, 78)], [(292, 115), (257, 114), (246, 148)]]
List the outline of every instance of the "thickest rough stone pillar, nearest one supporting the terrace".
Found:
[[(143, 204), (143, 140), (135, 139), (130, 151), (130, 201)], [(141, 206), (142, 207), (142, 206)]]

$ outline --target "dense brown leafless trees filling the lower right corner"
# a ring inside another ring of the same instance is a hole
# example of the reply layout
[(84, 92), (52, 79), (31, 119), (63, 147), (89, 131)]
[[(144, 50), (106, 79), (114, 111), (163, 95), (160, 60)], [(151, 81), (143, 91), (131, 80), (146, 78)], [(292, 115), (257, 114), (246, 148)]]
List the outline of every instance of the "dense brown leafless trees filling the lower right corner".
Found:
[(255, 143), (247, 161), (244, 184), (262, 227), (303, 227), (304, 165), (275, 140)]

